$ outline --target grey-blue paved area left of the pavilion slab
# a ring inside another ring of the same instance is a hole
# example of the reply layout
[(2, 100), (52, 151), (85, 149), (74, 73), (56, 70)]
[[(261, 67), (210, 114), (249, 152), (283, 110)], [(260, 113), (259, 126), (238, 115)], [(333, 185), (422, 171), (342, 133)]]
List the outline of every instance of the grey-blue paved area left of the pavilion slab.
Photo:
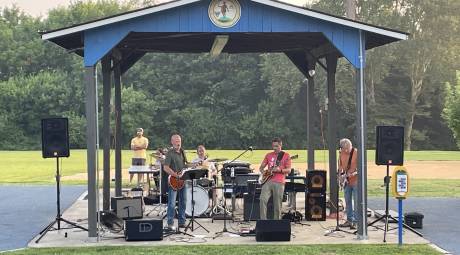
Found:
[[(62, 186), (62, 211), (85, 190)], [(0, 201), (0, 251), (26, 247), (56, 217), (56, 186), (0, 185)]]

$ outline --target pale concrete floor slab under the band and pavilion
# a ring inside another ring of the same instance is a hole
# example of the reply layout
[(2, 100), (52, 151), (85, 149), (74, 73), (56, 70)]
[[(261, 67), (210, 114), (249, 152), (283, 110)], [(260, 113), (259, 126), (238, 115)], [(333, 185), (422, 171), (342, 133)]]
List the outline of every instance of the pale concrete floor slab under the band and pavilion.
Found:
[[(102, 197), (102, 196), (101, 196)], [(304, 195), (298, 193), (297, 195), (297, 210), (304, 214)], [(227, 200), (227, 205), (231, 204), (230, 199)], [(150, 211), (153, 206), (146, 206), (145, 212)], [(243, 201), (237, 199), (236, 211), (234, 222), (227, 221), (227, 229), (232, 232), (238, 232), (241, 229), (248, 229), (255, 227), (255, 221), (243, 222), (240, 219), (243, 218)], [(283, 203), (283, 211), (287, 211), (287, 203)], [(71, 220), (82, 226), (87, 226), (87, 201), (85, 196), (81, 196), (70, 208), (68, 208), (63, 214), (65, 219)], [(161, 219), (161, 214), (154, 212), (149, 217)], [(373, 221), (373, 217), (368, 219), (369, 222)], [(189, 219), (187, 219), (188, 223)], [(210, 232), (207, 233), (202, 228), (196, 229), (195, 231), (188, 233), (194, 235), (189, 237), (182, 234), (171, 235), (165, 237), (162, 241), (139, 241), (139, 242), (127, 242), (123, 238), (123, 233), (111, 233), (109, 231), (101, 231), (99, 238), (89, 238), (87, 232), (80, 229), (65, 229), (59, 231), (49, 232), (38, 244), (35, 243), (37, 237), (29, 242), (29, 247), (70, 247), (70, 246), (107, 246), (107, 245), (184, 245), (184, 244), (263, 244), (256, 242), (255, 236), (238, 236), (230, 233), (213, 238), (216, 232), (222, 231), (224, 222), (217, 220), (211, 222), (210, 218), (199, 218), (197, 221), (207, 228)], [(176, 222), (177, 223), (177, 222)], [(327, 219), (326, 221), (305, 221), (302, 224), (291, 224), (291, 241), (280, 242), (282, 244), (379, 244), (383, 241), (383, 231), (369, 227), (367, 240), (358, 240), (356, 235), (347, 234), (342, 232), (336, 232), (329, 236), (325, 236), (331, 229), (335, 228), (336, 220)], [(163, 222), (166, 225), (166, 221)], [(377, 225), (383, 226), (383, 222), (379, 222)], [(396, 225), (390, 224), (390, 229), (393, 229)], [(195, 225), (196, 227), (196, 225)], [(406, 244), (429, 244), (430, 241), (422, 237), (417, 236), (409, 230), (404, 230), (403, 241)], [(398, 234), (397, 229), (390, 230), (387, 233), (387, 243), (397, 243)], [(267, 244), (273, 244), (277, 242), (267, 242)]]

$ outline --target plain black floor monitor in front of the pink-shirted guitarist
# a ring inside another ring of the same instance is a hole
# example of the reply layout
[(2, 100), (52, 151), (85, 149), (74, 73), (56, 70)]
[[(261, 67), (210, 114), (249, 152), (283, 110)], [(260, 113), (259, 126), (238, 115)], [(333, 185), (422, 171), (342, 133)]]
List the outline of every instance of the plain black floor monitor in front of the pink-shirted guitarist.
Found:
[(256, 241), (290, 241), (291, 222), (289, 220), (258, 220), (256, 223)]

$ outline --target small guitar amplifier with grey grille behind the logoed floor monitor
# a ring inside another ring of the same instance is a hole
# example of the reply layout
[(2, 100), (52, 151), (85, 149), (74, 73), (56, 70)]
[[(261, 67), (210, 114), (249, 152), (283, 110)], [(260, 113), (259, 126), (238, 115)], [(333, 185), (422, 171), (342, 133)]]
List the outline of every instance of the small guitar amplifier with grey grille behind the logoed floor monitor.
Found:
[(112, 210), (121, 219), (139, 219), (143, 217), (142, 197), (111, 197)]

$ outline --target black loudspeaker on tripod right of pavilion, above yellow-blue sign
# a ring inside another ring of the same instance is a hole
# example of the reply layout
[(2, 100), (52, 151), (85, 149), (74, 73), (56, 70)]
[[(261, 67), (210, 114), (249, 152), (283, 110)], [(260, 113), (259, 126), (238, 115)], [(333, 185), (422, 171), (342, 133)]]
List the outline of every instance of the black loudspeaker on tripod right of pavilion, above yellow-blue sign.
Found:
[(404, 127), (377, 126), (376, 165), (403, 165)]

